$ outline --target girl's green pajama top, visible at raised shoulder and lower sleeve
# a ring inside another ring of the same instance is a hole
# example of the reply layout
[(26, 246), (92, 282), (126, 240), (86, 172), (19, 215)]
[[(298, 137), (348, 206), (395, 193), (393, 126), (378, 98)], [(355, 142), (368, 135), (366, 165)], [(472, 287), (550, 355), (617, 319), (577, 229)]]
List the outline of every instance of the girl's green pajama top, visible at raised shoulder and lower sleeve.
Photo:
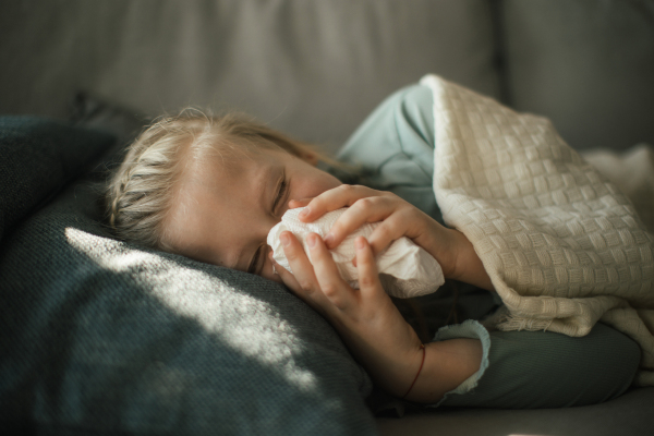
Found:
[[(443, 223), (432, 190), (434, 172), (432, 90), (404, 87), (386, 100), (346, 143), (338, 159), (358, 167), (356, 175), (330, 169), (346, 183), (390, 191)], [(438, 304), (440, 289), (423, 299), (422, 311)], [(436, 405), (558, 408), (609, 400), (622, 393), (640, 361), (640, 348), (627, 336), (597, 324), (581, 338), (549, 331), (488, 331), (477, 320), (501, 304), (497, 295), (464, 286), (461, 324), (447, 325), (434, 341), (480, 339), (480, 370)]]

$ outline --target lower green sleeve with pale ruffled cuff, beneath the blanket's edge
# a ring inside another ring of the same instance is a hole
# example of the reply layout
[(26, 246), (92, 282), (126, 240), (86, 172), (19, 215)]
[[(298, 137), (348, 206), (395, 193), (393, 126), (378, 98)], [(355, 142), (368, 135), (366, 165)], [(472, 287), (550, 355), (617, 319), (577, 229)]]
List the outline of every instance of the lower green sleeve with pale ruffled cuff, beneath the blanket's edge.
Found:
[(594, 404), (631, 385), (640, 348), (629, 337), (596, 324), (573, 338), (552, 331), (491, 331), (480, 323), (443, 327), (434, 340), (482, 341), (480, 370), (433, 407), (544, 409)]

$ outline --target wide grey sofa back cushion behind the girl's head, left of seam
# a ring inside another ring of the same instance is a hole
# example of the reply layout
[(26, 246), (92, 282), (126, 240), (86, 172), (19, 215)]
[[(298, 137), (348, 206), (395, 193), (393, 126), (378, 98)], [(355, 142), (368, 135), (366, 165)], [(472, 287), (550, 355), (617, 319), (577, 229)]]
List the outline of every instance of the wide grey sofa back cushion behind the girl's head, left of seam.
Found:
[(483, 0), (16, 2), (0, 112), (62, 116), (78, 88), (148, 112), (240, 109), (335, 150), (392, 90), (438, 72), (497, 96)]

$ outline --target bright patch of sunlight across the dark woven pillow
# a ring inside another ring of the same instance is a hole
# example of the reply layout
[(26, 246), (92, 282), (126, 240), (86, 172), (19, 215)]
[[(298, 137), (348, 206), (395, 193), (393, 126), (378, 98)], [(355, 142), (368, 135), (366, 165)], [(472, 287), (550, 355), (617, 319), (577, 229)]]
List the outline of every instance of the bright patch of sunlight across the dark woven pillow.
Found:
[(66, 228), (65, 237), (99, 267), (130, 276), (143, 292), (177, 315), (195, 320), (222, 343), (269, 366), (302, 390), (317, 386), (315, 376), (295, 363), (306, 352), (298, 329), (274, 305), (206, 271), (120, 241), (74, 228)]

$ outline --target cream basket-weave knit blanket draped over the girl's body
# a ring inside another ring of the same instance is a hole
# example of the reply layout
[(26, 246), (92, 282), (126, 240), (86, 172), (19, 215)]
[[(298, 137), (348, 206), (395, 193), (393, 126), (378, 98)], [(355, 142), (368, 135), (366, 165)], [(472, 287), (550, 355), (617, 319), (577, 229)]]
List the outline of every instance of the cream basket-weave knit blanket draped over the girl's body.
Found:
[(505, 303), (488, 326), (584, 336), (601, 320), (642, 348), (654, 385), (654, 235), (615, 184), (542, 117), (428, 75), (434, 193)]

